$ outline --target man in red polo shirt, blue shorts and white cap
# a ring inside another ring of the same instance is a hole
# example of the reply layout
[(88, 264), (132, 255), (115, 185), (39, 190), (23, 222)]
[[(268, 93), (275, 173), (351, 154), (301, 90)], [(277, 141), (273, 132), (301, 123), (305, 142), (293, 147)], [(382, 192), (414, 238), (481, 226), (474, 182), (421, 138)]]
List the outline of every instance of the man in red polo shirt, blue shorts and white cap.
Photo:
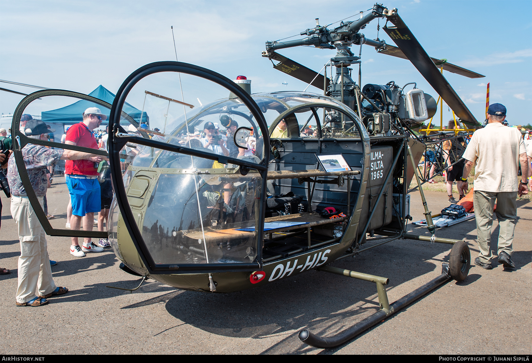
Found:
[[(83, 113), (83, 121), (71, 126), (66, 132), (65, 143), (98, 149), (98, 143), (92, 130), (96, 129), (102, 121), (106, 120), (99, 108), (89, 107)], [(104, 160), (103, 157), (91, 157), (86, 160), (73, 160), (65, 162), (66, 185), (70, 192), (72, 202), (72, 217), (70, 229), (79, 230), (83, 222), (84, 231), (92, 231), (94, 225), (94, 213), (101, 208), (100, 187), (96, 176), (97, 165)], [(85, 238), (82, 246), (79, 246), (78, 238), (72, 237), (70, 254), (76, 257), (84, 257), (85, 252), (101, 252), (102, 247), (97, 246), (90, 238)]]

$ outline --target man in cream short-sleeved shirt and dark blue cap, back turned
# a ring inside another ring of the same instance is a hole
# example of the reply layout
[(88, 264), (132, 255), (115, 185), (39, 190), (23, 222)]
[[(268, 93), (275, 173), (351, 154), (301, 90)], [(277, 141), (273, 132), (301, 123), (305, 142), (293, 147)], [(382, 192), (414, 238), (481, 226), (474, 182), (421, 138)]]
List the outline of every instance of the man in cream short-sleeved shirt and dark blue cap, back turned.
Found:
[[(497, 200), (495, 214), (499, 223), (498, 263), (505, 268), (515, 268), (511, 260), (513, 231), (517, 220), (517, 193), (528, 193), (528, 160), (521, 132), (502, 124), (506, 118), (506, 107), (495, 103), (488, 108), (488, 124), (473, 133), (463, 154), (467, 161), (463, 168), (462, 181), (473, 165), (475, 181), (473, 206), (477, 222), (477, 241), (480, 250), (475, 265), (492, 269), (492, 252), (489, 242), (492, 235), (493, 207)], [(521, 164), (521, 181), (517, 172)], [(467, 189), (467, 187), (466, 187)]]

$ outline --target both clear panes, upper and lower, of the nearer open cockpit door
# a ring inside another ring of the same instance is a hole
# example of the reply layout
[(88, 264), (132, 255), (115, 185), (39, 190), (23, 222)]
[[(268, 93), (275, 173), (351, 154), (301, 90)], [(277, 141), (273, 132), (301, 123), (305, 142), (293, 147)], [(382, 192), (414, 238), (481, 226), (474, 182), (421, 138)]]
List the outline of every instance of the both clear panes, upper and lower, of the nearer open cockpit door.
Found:
[[(244, 176), (238, 163), (225, 159), (259, 164), (263, 158), (262, 132), (250, 109), (217, 83), (174, 72), (148, 75), (126, 101), (143, 115), (128, 133), (171, 148), (130, 139), (120, 154), (128, 207), (155, 264), (252, 262), (261, 176), (253, 169)], [(242, 127), (245, 148), (234, 141)], [(119, 249), (123, 216), (117, 204), (111, 209), (110, 241)]]

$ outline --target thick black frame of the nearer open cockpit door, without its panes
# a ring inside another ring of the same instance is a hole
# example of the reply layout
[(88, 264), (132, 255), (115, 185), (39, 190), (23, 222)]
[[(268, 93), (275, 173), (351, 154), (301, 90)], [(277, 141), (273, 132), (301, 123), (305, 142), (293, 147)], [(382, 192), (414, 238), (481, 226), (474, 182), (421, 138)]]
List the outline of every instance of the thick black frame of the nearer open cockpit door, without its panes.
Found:
[[(264, 138), (264, 154), (263, 159), (259, 164), (251, 163), (244, 161), (242, 159), (226, 157), (221, 155), (215, 155), (212, 153), (206, 153), (199, 150), (194, 150), (186, 147), (172, 145), (168, 142), (159, 142), (152, 139), (143, 139), (140, 137), (130, 137), (127, 135), (126, 131), (123, 130), (120, 126), (120, 115), (122, 107), (126, 102), (126, 98), (129, 94), (129, 91), (136, 85), (137, 82), (147, 77), (150, 74), (160, 73), (160, 72), (178, 72), (185, 73), (190, 75), (195, 75), (196, 77), (201, 77), (206, 80), (210, 80), (218, 85), (225, 87), (233, 94), (235, 94), (242, 102), (250, 109), (250, 112), (255, 117), (259, 128), (261, 129), (263, 138)], [(264, 222), (265, 214), (265, 193), (266, 193), (266, 181), (268, 175), (268, 161), (270, 159), (270, 149), (267, 147), (270, 144), (268, 126), (266, 120), (261, 112), (259, 106), (255, 103), (253, 98), (248, 95), (242, 88), (236, 85), (235, 82), (231, 81), (223, 75), (213, 72), (211, 70), (199, 67), (193, 64), (182, 63), (182, 62), (155, 62), (146, 64), (143, 67), (140, 67), (135, 72), (131, 73), (129, 77), (124, 80), (120, 89), (117, 92), (117, 95), (114, 98), (113, 105), (111, 107), (111, 114), (109, 117), (110, 124), (110, 143), (109, 143), (109, 154), (110, 154), (110, 167), (111, 167), (111, 179), (115, 187), (115, 197), (117, 198), (117, 204), (120, 208), (120, 213), (123, 217), (124, 225), (128, 230), (128, 233), (131, 237), (132, 242), (134, 243), (139, 256), (142, 259), (146, 269), (150, 274), (175, 274), (175, 273), (205, 273), (205, 272), (228, 272), (228, 271), (254, 271), (257, 268), (262, 268), (262, 241), (264, 231), (259, 228), (257, 233), (257, 255), (255, 262), (253, 263), (227, 263), (227, 264), (155, 264), (154, 259), (151, 254), (149, 254), (148, 248), (140, 230), (135, 222), (135, 217), (129, 208), (128, 199), (126, 195), (126, 189), (121, 175), (120, 168), (120, 149), (126, 145), (126, 142), (132, 141), (137, 142), (140, 145), (145, 145), (148, 147), (160, 148), (163, 150), (169, 150), (176, 153), (182, 153), (192, 156), (200, 156), (218, 162), (230, 162), (232, 164), (240, 165), (241, 167), (253, 168), (261, 174), (262, 177), (262, 188), (261, 188), (261, 197), (259, 202), (259, 223)]]

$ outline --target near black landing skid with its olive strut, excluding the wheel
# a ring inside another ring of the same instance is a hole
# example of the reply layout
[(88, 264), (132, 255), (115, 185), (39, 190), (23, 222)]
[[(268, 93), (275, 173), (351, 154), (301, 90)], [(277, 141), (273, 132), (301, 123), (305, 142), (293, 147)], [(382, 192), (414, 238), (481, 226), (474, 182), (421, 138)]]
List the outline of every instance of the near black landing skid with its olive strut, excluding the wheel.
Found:
[[(350, 341), (355, 336), (360, 333), (368, 330), (373, 325), (376, 325), (386, 319), (388, 316), (397, 313), (403, 307), (409, 305), (415, 300), (419, 299), (428, 292), (436, 289), (439, 285), (446, 283), (451, 280), (449, 275), (448, 264), (444, 263), (442, 266), (442, 274), (434, 278), (434, 280), (429, 281), (420, 288), (412, 291), (411, 293), (403, 296), (401, 299), (388, 304), (388, 297), (386, 295), (386, 289), (384, 288), (385, 284), (388, 284), (388, 279), (385, 277), (373, 276), (368, 274), (363, 274), (359, 272), (345, 270), (343, 268), (336, 268), (331, 266), (323, 266), (317, 268), (319, 271), (330, 272), (338, 275), (344, 275), (354, 278), (360, 278), (361, 280), (375, 282), (377, 284), (377, 293), (379, 296), (379, 305), (380, 310), (377, 313), (368, 316), (363, 319), (361, 322), (356, 323), (350, 328), (347, 328), (345, 331), (340, 332), (334, 336), (321, 337), (309, 332), (308, 329), (302, 329), (298, 336), (299, 339), (306, 344), (312, 345), (316, 348), (334, 348), (338, 345), (343, 344), (347, 341)], [(373, 280), (372, 280), (373, 279)], [(382, 279), (382, 280), (381, 280)]]

